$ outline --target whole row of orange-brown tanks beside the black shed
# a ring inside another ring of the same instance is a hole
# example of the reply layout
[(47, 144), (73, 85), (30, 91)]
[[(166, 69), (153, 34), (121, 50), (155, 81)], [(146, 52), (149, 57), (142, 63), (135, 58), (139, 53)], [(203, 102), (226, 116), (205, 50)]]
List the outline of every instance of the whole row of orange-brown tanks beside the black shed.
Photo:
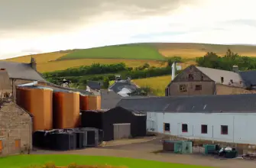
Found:
[(99, 110), (100, 96), (45, 86), (17, 86), (16, 103), (33, 115), (33, 131), (77, 128), (81, 110)]

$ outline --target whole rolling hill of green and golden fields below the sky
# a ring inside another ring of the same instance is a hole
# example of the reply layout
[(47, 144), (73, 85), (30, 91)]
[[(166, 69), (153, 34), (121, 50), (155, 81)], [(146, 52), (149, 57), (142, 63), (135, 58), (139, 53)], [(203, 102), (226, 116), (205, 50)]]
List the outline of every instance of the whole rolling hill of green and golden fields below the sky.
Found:
[(196, 57), (203, 57), (206, 52), (215, 52), (220, 56), (231, 49), (235, 53), (256, 57), (256, 46), (219, 45), (219, 44), (178, 44), (178, 43), (149, 43), (123, 44), (108, 47), (97, 47), (81, 50), (66, 50), (53, 53), (41, 53), (30, 56), (7, 59), (20, 63), (29, 63), (31, 57), (37, 60), (37, 69), (41, 73), (67, 69), (75, 66), (91, 65), (92, 63), (120, 63), (136, 67), (144, 63), (151, 66), (166, 66), (167, 57), (182, 57), (189, 63)]

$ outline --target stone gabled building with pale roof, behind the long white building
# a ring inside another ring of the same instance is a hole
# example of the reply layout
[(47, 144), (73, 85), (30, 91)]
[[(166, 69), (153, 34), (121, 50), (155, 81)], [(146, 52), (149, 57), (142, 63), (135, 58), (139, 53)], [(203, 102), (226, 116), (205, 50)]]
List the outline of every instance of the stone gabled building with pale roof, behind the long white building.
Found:
[(188, 66), (165, 89), (165, 95), (234, 95), (252, 93), (237, 72)]

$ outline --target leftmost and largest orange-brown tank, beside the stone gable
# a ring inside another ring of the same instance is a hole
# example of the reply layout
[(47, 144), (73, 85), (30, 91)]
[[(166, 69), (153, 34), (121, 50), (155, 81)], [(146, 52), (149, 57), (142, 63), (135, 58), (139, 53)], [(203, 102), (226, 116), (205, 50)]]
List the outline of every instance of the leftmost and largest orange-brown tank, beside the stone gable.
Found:
[(33, 131), (53, 129), (53, 89), (24, 86), (16, 92), (17, 105), (34, 116)]

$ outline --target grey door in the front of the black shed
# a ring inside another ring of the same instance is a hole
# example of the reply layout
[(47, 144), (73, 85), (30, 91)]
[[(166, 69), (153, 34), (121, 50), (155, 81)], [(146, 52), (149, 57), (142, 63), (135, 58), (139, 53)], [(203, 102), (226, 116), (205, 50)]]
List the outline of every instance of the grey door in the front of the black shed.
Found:
[(131, 123), (113, 124), (114, 140), (128, 138), (131, 135)]

